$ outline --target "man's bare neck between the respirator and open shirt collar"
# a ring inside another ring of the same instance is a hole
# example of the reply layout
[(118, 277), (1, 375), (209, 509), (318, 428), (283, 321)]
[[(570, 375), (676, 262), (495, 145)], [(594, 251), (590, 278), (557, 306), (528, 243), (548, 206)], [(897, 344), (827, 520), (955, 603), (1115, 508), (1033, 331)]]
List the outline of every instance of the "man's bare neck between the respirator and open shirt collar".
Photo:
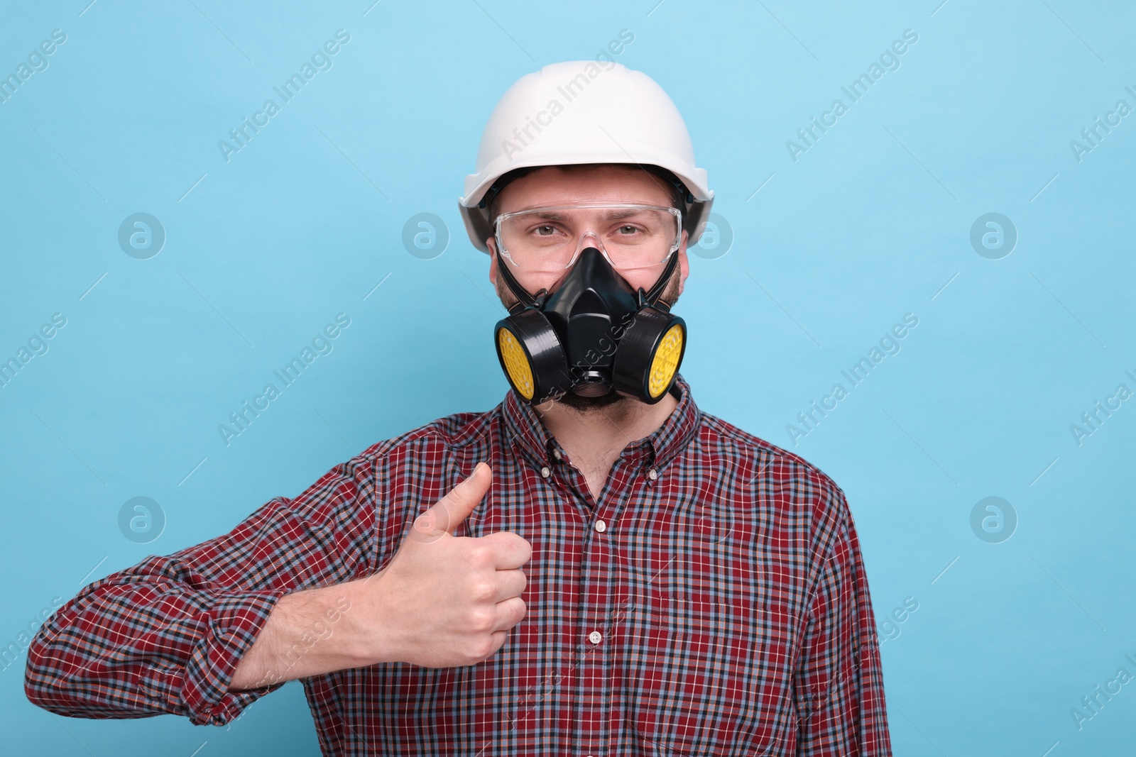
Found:
[(668, 392), (653, 405), (623, 397), (605, 407), (582, 411), (554, 402), (537, 413), (576, 468), (605, 479), (619, 453), (658, 430), (677, 406), (678, 401)]

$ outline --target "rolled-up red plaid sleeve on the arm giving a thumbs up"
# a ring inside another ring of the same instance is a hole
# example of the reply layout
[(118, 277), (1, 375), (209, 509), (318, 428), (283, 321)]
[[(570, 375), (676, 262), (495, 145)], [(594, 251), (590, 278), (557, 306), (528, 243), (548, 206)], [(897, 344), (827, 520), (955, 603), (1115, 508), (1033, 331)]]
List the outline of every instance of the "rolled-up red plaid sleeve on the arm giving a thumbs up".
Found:
[(228, 691), (276, 602), (369, 573), (371, 464), (361, 456), (341, 463), (224, 536), (85, 587), (32, 640), (27, 698), (73, 717), (174, 714), (195, 725), (235, 718), (283, 685)]

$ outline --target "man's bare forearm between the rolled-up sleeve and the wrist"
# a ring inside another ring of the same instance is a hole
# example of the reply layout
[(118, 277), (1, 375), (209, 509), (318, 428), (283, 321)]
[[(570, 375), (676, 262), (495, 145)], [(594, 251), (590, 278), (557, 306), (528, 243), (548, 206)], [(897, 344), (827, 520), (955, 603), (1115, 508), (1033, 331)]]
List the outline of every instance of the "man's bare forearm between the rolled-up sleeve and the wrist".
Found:
[[(356, 590), (364, 581), (307, 589), (282, 597), (256, 642), (244, 654), (229, 691), (323, 675), (386, 662), (373, 651), (375, 629), (365, 633)], [(354, 600), (354, 602), (353, 602)]]

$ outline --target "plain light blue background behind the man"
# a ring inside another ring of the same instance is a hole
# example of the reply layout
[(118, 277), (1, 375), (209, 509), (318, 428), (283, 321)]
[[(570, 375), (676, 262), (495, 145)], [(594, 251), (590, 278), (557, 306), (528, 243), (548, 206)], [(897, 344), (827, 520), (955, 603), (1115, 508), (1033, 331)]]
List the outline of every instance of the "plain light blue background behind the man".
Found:
[[(1136, 399), (1080, 445), (1070, 424), (1136, 390), (1136, 115), (1081, 161), (1069, 145), (1136, 107), (1130, 3), (87, 1), (0, 15), (2, 75), (67, 34), (0, 103), (0, 359), (67, 318), (0, 387), (0, 642), (376, 440), (495, 405), (500, 308), (462, 178), (512, 81), (626, 28), (617, 59), (685, 115), (734, 235), (691, 256), (683, 375), (845, 490), (880, 622), (919, 604), (883, 645), (895, 752), (1130, 749), (1136, 683), (1080, 730), (1070, 708), (1136, 674)], [(226, 162), (218, 140), (339, 28), (332, 69)], [(840, 87), (908, 28), (900, 68), (850, 104)], [(794, 162), (786, 140), (836, 98), (849, 112)], [(135, 212), (165, 227), (149, 260), (117, 243)], [(449, 227), (431, 260), (401, 241), (419, 212)], [(969, 242), (987, 212), (1019, 235), (1000, 260)], [(226, 446), (217, 426), (339, 312), (334, 351)], [(909, 312), (901, 352), (794, 445), (786, 426)], [(151, 544), (119, 531), (135, 496), (166, 514)], [(987, 496), (1017, 512), (1001, 544), (970, 527)], [(318, 752), (298, 682), (227, 727), (99, 722), (33, 707), (23, 662), (0, 671), (11, 754)]]

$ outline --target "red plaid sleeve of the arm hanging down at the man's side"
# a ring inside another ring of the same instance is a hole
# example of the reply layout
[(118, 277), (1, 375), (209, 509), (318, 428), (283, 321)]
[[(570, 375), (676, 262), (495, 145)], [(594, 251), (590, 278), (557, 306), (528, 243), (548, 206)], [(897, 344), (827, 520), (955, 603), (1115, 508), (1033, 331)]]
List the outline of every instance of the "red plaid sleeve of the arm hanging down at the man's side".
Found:
[(840, 520), (809, 609), (794, 691), (800, 756), (892, 754), (876, 620), (852, 514)]

